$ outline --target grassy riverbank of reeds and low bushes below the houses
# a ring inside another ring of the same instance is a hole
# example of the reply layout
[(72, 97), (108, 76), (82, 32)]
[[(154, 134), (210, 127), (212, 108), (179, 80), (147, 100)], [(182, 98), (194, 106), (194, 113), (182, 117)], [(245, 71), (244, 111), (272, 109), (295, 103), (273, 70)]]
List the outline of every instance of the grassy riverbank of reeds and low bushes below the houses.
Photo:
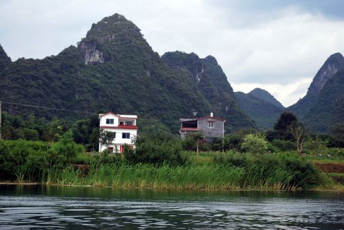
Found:
[[(0, 141), (1, 179), (48, 185), (158, 189), (292, 190), (336, 186), (312, 161), (293, 151), (252, 154), (231, 150), (203, 152), (196, 156), (195, 152), (180, 152), (178, 145), (142, 146), (144, 148), (124, 155), (83, 152), (64, 155), (63, 151), (75, 151), (80, 146)], [(165, 148), (169, 148), (169, 161), (160, 161), (166, 156), (159, 158), (156, 152)]]

